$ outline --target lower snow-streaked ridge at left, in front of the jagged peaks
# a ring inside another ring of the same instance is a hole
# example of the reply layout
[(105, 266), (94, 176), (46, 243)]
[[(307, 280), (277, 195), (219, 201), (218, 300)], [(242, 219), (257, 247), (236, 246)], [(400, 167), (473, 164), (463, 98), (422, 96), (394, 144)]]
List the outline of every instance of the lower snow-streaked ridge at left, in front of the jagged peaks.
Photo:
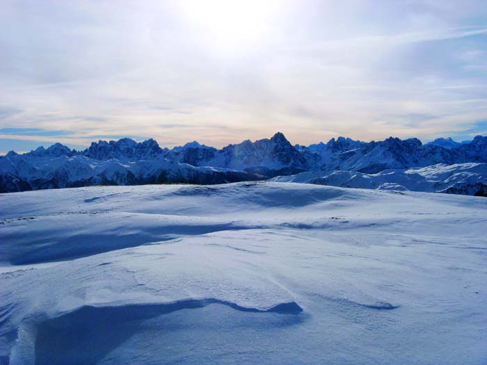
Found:
[(223, 184), (262, 178), (245, 171), (195, 167), (162, 156), (133, 162), (99, 161), (81, 155), (15, 154), (0, 159), (0, 193), (93, 185)]

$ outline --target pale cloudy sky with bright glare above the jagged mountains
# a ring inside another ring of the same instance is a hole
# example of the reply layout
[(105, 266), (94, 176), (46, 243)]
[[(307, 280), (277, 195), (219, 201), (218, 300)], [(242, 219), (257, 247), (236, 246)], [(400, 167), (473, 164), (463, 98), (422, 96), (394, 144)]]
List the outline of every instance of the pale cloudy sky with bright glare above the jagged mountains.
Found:
[(480, 1), (0, 1), (0, 153), (487, 134)]

